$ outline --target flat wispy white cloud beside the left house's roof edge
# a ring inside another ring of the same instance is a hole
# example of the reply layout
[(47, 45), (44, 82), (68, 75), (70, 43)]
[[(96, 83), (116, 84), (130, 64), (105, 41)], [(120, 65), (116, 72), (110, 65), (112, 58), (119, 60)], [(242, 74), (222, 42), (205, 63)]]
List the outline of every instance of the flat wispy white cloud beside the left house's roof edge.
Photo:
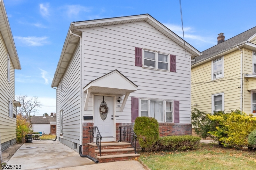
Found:
[(26, 46), (43, 46), (44, 44), (48, 44), (47, 41), (48, 37), (35, 37), (35, 36), (28, 36), (28, 37), (21, 37), (21, 36), (14, 36), (14, 39), (19, 41), (21, 44)]

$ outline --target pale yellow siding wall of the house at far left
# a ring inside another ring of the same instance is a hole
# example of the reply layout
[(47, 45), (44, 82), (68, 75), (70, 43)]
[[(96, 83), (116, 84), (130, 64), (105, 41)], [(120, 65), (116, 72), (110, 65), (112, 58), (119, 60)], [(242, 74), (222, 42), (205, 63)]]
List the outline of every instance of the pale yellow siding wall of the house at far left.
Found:
[[(9, 100), (14, 100), (14, 66), (9, 60), (8, 51), (2, 34), (0, 33), (0, 132), (1, 143), (16, 138), (16, 118), (9, 117)], [(8, 73), (9, 71), (9, 79)], [(10, 81), (9, 81), (10, 80)], [(16, 107), (12, 106), (12, 114), (16, 114)]]

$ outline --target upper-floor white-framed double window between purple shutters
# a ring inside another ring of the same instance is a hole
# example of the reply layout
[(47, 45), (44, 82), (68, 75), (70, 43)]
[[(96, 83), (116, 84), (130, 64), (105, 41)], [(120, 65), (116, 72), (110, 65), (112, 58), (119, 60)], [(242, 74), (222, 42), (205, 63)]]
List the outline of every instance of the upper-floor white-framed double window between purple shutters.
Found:
[(156, 70), (169, 71), (169, 54), (159, 53), (156, 51), (144, 50), (143, 66)]

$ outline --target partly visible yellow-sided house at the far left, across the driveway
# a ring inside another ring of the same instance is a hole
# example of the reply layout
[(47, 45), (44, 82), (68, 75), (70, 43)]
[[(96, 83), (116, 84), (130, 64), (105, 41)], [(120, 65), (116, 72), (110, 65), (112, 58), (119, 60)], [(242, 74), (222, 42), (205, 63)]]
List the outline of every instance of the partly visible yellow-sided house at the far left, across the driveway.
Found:
[[(16, 107), (14, 100), (14, 69), (21, 69), (11, 28), (0, 1), (0, 139), (1, 150), (16, 143)], [(0, 150), (0, 152), (1, 152)]]

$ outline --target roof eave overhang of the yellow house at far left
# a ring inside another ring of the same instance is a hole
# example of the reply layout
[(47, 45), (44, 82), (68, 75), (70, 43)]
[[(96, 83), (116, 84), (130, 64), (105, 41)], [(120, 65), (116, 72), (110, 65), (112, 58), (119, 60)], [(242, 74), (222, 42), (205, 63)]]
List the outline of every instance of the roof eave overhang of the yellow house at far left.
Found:
[(8, 17), (5, 11), (3, 0), (0, 1), (0, 32), (4, 39), (8, 54), (14, 66), (14, 69), (21, 69), (20, 60), (16, 51), (15, 43), (12, 37), (11, 27), (8, 21)]

